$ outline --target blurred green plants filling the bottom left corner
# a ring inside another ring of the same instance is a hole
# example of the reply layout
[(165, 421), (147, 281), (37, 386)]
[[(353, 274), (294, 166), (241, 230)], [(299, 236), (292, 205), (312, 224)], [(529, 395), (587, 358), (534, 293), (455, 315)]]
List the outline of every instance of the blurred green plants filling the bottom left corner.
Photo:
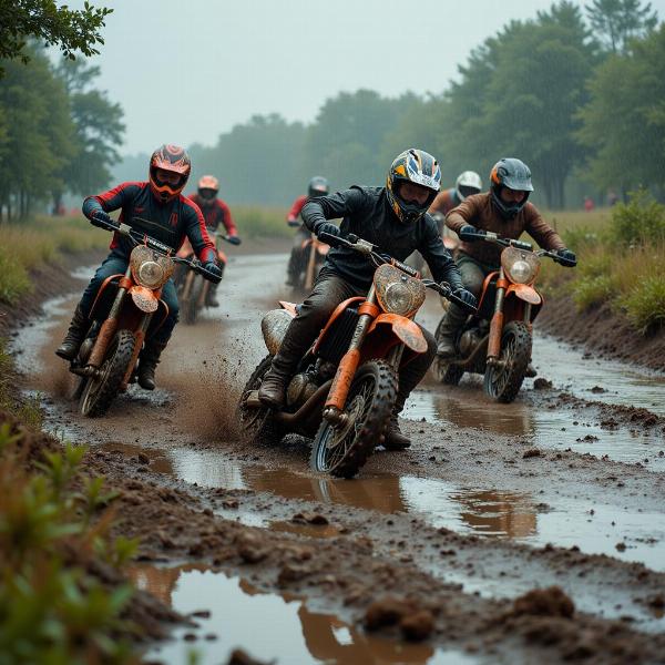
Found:
[(74, 491), (84, 449), (71, 446), (30, 472), (30, 436), (0, 424), (0, 663), (133, 663), (117, 638), (129, 628), (121, 612), (132, 589), (93, 573), (100, 552), (115, 556), (109, 520), (89, 520), (101, 483)]

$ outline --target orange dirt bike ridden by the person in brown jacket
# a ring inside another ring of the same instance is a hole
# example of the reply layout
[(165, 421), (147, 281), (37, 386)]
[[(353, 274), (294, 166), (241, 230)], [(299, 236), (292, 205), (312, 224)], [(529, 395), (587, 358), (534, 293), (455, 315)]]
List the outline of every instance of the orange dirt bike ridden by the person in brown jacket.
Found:
[[(562, 259), (546, 249), (534, 252), (530, 243), (502, 238), (495, 233), (460, 237), (504, 247), (501, 267), (485, 277), (478, 313), (467, 319), (454, 340), (457, 355), (437, 357), (432, 368), (437, 379), (449, 386), (457, 386), (467, 371), (484, 375), (484, 392), (497, 401), (511, 402), (528, 376), (532, 324), (543, 305), (543, 297), (534, 286), (541, 257), (548, 256), (569, 267), (574, 267), (576, 262)], [(437, 327), (437, 339), (443, 318)]]

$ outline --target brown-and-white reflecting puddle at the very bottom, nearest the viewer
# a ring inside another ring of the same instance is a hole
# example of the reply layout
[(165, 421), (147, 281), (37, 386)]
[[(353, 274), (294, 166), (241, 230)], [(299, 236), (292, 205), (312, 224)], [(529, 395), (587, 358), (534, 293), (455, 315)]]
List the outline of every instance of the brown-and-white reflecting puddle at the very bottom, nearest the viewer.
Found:
[(163, 569), (141, 566), (131, 571), (139, 589), (149, 591), (182, 614), (197, 616), (198, 627), (180, 627), (173, 640), (152, 648), (146, 658), (186, 663), (196, 652), (200, 665), (225, 663), (234, 648), (252, 657), (285, 665), (466, 665), (477, 658), (377, 637), (331, 614), (310, 610), (289, 595), (264, 593), (241, 577), (227, 577), (200, 566)]

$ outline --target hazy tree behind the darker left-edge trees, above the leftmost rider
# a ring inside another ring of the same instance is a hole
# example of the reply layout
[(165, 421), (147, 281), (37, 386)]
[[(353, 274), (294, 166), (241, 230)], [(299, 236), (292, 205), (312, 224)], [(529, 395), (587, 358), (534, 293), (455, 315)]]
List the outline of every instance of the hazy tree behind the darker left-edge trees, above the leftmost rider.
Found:
[[(109, 184), (110, 166), (120, 160), (117, 146), (124, 132), (123, 111), (120, 104), (109, 101), (104, 92), (91, 88), (100, 75), (99, 66), (63, 60), (57, 74), (69, 93), (75, 126), (75, 154), (64, 168), (63, 180), (69, 192), (86, 195)], [(55, 206), (62, 194), (62, 191), (53, 191)]]

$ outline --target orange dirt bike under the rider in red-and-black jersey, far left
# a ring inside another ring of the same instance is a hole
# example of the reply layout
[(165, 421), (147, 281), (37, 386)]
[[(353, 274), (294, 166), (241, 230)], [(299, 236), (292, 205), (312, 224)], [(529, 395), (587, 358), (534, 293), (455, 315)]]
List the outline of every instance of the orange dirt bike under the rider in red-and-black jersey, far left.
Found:
[(134, 370), (143, 341), (153, 336), (168, 314), (160, 298), (176, 263), (187, 265), (211, 280), (217, 277), (201, 263), (178, 258), (158, 241), (127, 224), (109, 225), (131, 238), (134, 248), (124, 275), (108, 277), (93, 303), (92, 325), (70, 365), (80, 380), (73, 392), (83, 416), (103, 416), (119, 392), (135, 380)]

